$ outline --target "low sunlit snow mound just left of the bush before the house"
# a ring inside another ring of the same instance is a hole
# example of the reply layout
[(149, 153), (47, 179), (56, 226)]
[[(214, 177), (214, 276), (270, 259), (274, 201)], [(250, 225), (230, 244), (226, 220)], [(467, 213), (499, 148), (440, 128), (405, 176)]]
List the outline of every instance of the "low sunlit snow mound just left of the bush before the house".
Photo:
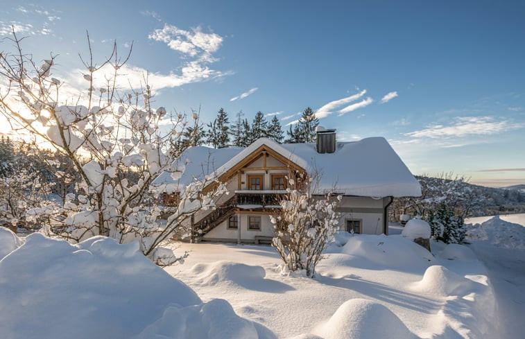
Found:
[(266, 271), (261, 266), (250, 266), (232, 261), (216, 261), (215, 263), (198, 263), (191, 268), (199, 276), (203, 285), (219, 283), (246, 286), (247, 281), (261, 281)]

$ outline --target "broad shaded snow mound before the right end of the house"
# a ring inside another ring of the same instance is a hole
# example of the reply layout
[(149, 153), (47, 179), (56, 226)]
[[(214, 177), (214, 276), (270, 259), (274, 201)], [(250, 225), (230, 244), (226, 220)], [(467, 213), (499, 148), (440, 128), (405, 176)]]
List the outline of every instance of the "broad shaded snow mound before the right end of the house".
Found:
[[(359, 261), (369, 261), (372, 269), (384, 268), (427, 268), (435, 263), (433, 255), (422, 246), (399, 235), (384, 234), (352, 236), (341, 252), (359, 257)], [(373, 265), (375, 264), (375, 265)], [(374, 267), (377, 266), (377, 267)]]

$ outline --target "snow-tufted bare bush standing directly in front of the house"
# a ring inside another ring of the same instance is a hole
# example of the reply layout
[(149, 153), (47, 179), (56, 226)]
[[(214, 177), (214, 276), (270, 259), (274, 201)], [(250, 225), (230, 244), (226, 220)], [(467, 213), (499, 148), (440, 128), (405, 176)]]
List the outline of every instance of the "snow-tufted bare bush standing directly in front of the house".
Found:
[[(312, 178), (300, 178), (302, 184), (289, 179), (276, 216), (270, 216), (275, 226), (272, 245), (288, 270), (305, 270), (308, 277), (316, 273), (322, 252), (338, 229), (339, 215), (335, 209), (341, 196), (333, 198), (313, 195)], [(300, 187), (302, 186), (302, 187)]]

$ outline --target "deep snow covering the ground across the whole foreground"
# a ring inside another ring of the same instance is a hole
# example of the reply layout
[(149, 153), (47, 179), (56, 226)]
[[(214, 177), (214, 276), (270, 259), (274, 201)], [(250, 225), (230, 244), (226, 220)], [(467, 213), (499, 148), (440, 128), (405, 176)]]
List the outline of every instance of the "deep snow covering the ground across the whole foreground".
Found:
[(0, 338), (522, 338), (522, 225), (490, 218), (434, 255), (395, 225), (338, 236), (315, 279), (270, 246), (183, 244), (163, 272), (134, 244), (0, 229)]

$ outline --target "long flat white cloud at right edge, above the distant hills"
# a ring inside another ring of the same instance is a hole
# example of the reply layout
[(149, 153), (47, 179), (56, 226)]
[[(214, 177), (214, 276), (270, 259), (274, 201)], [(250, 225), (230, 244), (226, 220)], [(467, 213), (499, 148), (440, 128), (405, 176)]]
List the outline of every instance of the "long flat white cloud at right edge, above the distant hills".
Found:
[(524, 123), (495, 121), (491, 116), (458, 117), (451, 125), (430, 125), (423, 130), (406, 133), (408, 137), (440, 138), (466, 137), (467, 135), (490, 135), (525, 127)]

